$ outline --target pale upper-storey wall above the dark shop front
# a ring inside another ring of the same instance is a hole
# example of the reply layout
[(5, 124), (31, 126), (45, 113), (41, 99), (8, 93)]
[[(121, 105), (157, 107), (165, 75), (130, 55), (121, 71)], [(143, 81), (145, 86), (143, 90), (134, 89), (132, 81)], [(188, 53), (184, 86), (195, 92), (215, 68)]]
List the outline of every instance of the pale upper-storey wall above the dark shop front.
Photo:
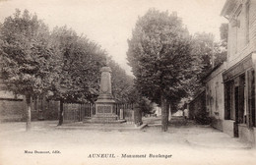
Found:
[(234, 27), (235, 14), (239, 5), (236, 5), (233, 13), (229, 16), (228, 24), (228, 48), (227, 48), (227, 68), (233, 66), (251, 52), (256, 51), (256, 0), (250, 0), (249, 7), (249, 42), (246, 42), (246, 8), (244, 1), (239, 15), (238, 27)]

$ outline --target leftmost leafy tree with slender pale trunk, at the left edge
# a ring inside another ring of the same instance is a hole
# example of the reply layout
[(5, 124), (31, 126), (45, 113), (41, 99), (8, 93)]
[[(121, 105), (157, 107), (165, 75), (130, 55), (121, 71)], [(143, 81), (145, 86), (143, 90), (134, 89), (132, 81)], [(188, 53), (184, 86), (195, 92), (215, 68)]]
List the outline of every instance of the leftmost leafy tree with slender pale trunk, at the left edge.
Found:
[(32, 96), (47, 93), (53, 81), (53, 51), (49, 30), (36, 15), (16, 10), (0, 27), (1, 75), (7, 89), (27, 100), (27, 127), (31, 129)]

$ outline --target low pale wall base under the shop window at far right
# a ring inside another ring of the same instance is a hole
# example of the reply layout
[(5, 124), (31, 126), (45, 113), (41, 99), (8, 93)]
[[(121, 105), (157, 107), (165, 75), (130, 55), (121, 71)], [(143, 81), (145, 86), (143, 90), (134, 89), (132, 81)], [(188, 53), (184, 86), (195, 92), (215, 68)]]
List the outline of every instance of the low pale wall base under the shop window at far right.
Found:
[(255, 132), (253, 128), (248, 128), (245, 124), (238, 125), (239, 139), (243, 142), (248, 142), (251, 145), (255, 144)]

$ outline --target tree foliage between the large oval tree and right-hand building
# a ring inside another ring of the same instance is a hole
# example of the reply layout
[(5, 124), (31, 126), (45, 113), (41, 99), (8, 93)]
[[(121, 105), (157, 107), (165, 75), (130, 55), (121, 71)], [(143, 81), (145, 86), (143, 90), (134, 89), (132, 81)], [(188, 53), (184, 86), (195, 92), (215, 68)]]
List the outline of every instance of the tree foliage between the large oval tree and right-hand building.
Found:
[(193, 66), (196, 74), (189, 83), (190, 96), (194, 95), (199, 88), (203, 87), (203, 79), (216, 66), (221, 65), (226, 59), (226, 51), (222, 42), (216, 42), (212, 33), (197, 32), (192, 37)]

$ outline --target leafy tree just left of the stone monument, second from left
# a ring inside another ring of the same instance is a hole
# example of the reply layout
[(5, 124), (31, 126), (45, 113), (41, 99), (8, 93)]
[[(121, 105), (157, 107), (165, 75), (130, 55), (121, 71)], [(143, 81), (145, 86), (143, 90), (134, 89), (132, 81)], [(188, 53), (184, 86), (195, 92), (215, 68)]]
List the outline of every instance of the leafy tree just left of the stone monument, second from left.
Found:
[(53, 98), (60, 100), (59, 124), (63, 123), (63, 102), (94, 102), (98, 94), (100, 68), (106, 54), (95, 42), (78, 36), (73, 29), (55, 27), (51, 34), (59, 61), (59, 78), (52, 83)]

